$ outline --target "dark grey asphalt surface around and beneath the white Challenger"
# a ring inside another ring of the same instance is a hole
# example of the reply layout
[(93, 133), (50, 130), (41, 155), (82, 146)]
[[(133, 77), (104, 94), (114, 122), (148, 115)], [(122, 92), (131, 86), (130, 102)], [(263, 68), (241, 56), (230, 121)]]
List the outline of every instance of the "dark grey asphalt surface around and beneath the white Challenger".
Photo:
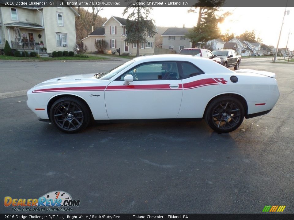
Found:
[[(294, 65), (269, 62), (240, 69), (275, 72), (277, 105), (229, 134), (204, 121), (93, 124), (64, 134), (37, 120), (23, 92), (119, 61), (0, 61), (0, 200), (60, 190), (81, 200), (71, 213), (262, 213), (266, 205), (294, 213)], [(0, 205), (0, 213), (13, 211)]]

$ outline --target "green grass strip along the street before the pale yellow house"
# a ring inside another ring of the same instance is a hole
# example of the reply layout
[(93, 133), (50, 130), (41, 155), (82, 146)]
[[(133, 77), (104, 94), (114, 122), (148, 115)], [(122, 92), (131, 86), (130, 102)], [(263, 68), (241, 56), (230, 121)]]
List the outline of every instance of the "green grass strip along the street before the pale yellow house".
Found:
[(51, 61), (51, 60), (107, 60), (105, 57), (89, 56), (89, 57), (13, 57), (0, 55), (0, 60), (30, 60), (30, 61)]

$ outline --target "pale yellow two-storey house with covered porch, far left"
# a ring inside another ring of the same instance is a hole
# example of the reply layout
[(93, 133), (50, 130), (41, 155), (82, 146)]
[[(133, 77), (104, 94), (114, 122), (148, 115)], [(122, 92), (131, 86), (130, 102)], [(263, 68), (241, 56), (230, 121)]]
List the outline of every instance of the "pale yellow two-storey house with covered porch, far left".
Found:
[(73, 51), (75, 16), (72, 7), (0, 7), (0, 48), (7, 40), (12, 49), (28, 52)]

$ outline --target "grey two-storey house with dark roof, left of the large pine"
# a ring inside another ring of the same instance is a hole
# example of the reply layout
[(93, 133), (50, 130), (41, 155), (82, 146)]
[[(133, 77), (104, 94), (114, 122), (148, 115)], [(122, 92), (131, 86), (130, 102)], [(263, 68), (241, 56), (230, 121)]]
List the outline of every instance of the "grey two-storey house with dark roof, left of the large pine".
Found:
[(162, 48), (175, 50), (179, 53), (183, 48), (191, 48), (192, 42), (190, 39), (186, 38), (185, 35), (192, 28), (168, 28), (162, 36)]

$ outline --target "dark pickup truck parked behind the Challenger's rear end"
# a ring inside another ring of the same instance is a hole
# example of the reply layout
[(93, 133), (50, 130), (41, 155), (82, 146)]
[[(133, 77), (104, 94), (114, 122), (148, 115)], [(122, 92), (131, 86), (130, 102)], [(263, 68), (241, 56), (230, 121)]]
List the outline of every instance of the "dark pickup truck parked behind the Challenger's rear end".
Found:
[(220, 64), (225, 67), (234, 67), (234, 70), (239, 69), (241, 63), (241, 56), (236, 55), (235, 50), (213, 50), (213, 55), (220, 58)]

